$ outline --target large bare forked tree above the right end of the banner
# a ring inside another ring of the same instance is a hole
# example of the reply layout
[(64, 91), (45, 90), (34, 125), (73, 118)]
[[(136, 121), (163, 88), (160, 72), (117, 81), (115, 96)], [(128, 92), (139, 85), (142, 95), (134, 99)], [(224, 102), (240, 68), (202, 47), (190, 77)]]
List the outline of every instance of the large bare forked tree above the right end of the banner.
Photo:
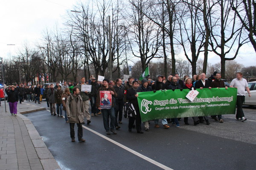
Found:
[[(232, 11), (232, 6), (228, 0), (219, 0), (215, 8), (218, 11), (210, 16), (211, 36), (209, 45), (212, 51), (221, 58), (221, 77), (224, 79), (225, 62), (237, 57), (241, 46), (247, 43), (247, 38), (244, 39), (242, 36), (243, 25), (237, 24), (237, 14)], [(228, 57), (230, 51), (234, 52), (233, 57)]]

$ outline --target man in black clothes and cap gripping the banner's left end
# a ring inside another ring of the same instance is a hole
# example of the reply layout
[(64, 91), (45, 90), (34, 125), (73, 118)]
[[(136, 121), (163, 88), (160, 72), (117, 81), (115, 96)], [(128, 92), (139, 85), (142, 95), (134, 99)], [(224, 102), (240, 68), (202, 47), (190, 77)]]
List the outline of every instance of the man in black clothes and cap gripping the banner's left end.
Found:
[(134, 124), (134, 121), (136, 120), (136, 130), (137, 133), (143, 133), (141, 131), (141, 117), (140, 117), (140, 109), (138, 105), (138, 100), (137, 97), (139, 96), (137, 94), (137, 88), (139, 87), (139, 82), (137, 80), (132, 82), (132, 88), (130, 88), (127, 91), (126, 98), (129, 100), (129, 102), (133, 105), (135, 112), (136, 112), (136, 117), (133, 116), (128, 116), (129, 117), (129, 125), (128, 125), (128, 130), (131, 132), (132, 126)]

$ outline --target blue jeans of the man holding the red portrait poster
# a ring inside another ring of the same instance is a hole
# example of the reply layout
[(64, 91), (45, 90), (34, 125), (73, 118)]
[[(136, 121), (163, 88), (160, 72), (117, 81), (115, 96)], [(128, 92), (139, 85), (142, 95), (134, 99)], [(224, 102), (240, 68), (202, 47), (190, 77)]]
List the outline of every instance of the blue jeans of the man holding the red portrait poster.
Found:
[(115, 110), (112, 107), (111, 109), (102, 109), (102, 116), (103, 116), (103, 124), (106, 131), (109, 131), (108, 119), (110, 116), (110, 129), (115, 129)]

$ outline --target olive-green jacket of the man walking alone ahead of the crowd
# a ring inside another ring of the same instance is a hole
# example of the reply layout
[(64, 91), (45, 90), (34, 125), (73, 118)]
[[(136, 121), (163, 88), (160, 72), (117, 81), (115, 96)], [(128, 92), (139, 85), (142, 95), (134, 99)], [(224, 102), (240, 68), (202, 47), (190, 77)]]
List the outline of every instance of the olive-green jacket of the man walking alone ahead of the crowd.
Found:
[(85, 110), (82, 97), (70, 94), (67, 98), (66, 112), (69, 123), (84, 122)]

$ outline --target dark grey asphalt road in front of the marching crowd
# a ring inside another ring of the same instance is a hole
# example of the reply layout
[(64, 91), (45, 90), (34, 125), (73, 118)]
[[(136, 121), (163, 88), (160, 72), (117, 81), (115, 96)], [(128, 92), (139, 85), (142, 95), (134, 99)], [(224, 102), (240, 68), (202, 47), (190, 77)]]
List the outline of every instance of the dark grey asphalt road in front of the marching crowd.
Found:
[[(42, 102), (41, 106), (45, 103)], [(143, 134), (128, 132), (123, 119), (117, 135), (106, 135), (102, 115), (84, 125), (86, 142), (71, 142), (69, 124), (49, 111), (27, 116), (63, 170), (255, 170), (256, 107), (244, 108), (247, 121), (223, 115), (224, 123), (154, 128)], [(142, 126), (143, 127), (143, 126)], [(77, 136), (77, 127), (75, 128)], [(114, 143), (113, 143), (114, 142)]]

